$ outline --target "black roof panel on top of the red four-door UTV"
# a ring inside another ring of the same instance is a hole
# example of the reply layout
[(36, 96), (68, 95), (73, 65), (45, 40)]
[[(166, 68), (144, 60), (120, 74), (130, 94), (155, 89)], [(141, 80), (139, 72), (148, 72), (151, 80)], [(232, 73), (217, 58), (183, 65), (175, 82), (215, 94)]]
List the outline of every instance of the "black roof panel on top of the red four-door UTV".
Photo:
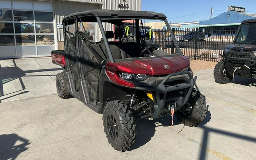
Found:
[(130, 11), (130, 10), (107, 10), (107, 9), (94, 9), (83, 12), (76, 12), (64, 19), (69, 17), (91, 14), (95, 17), (101, 18), (143, 18), (143, 19), (165, 19), (166, 16), (162, 13), (156, 13), (151, 11)]

